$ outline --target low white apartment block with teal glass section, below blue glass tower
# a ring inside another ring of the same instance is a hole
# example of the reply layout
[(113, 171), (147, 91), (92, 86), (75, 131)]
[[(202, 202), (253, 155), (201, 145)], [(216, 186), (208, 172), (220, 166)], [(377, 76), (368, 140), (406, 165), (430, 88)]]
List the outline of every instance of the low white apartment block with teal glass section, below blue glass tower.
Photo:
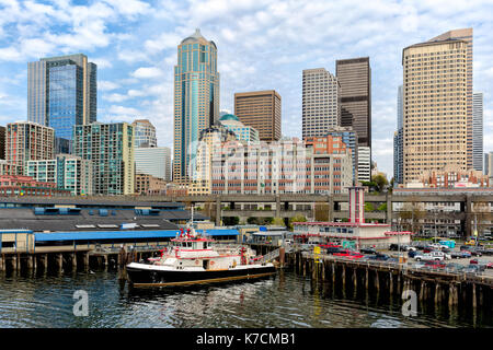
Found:
[(70, 190), (73, 196), (93, 194), (92, 175), (92, 162), (72, 154), (27, 162), (27, 176), (38, 182), (56, 183), (58, 188)]

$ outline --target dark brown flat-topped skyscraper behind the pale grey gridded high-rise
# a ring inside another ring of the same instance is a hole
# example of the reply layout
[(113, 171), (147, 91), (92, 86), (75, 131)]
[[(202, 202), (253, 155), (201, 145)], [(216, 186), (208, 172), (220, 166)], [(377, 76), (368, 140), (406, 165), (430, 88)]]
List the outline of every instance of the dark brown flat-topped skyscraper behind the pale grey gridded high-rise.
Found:
[(371, 148), (371, 68), (368, 57), (335, 61), (341, 84), (341, 126), (352, 126), (358, 145)]

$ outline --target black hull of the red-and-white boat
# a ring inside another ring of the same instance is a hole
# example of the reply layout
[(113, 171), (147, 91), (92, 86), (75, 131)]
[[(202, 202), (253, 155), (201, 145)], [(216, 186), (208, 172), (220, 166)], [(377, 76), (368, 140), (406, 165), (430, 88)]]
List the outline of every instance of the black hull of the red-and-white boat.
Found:
[(206, 270), (206, 271), (160, 271), (134, 267), (126, 268), (127, 279), (133, 287), (173, 287), (198, 283), (227, 282), (262, 278), (274, 275), (274, 266), (264, 266), (248, 269)]

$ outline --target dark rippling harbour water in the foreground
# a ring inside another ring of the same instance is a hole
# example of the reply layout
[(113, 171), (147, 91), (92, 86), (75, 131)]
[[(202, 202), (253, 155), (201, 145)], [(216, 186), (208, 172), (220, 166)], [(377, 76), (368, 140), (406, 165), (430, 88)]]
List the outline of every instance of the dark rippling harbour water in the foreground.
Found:
[[(89, 316), (72, 313), (73, 292), (89, 294)], [(116, 272), (0, 275), (0, 327), (491, 327), (491, 313), (450, 313), (421, 305), (404, 317), (401, 301), (346, 293), (290, 271), (245, 282), (162, 290), (121, 288)], [(423, 312), (425, 311), (425, 312)]]

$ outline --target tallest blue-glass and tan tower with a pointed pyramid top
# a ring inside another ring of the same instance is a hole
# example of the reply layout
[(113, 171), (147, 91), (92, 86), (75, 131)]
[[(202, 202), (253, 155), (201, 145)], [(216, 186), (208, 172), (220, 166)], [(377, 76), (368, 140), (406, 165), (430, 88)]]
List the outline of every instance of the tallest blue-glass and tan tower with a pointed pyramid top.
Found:
[(217, 47), (196, 30), (179, 45), (174, 67), (174, 182), (190, 182), (198, 136), (218, 119)]

